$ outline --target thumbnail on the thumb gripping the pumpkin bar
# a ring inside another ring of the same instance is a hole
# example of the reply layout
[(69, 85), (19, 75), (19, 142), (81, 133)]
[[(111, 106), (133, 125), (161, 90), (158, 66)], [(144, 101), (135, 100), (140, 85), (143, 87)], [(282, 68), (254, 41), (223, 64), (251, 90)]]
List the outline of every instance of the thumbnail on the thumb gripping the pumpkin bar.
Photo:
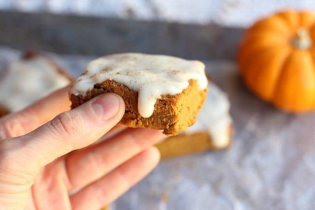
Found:
[(92, 103), (92, 108), (99, 118), (109, 120), (118, 113), (119, 98), (116, 94), (104, 94)]

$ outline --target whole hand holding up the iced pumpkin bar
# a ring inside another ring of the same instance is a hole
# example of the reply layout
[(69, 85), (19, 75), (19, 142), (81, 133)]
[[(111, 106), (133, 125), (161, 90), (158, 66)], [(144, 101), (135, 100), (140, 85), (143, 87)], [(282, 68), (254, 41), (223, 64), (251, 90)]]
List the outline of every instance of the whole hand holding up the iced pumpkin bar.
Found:
[(115, 126), (125, 113), (120, 96), (68, 109), (63, 89), (0, 119), (1, 210), (99, 210), (158, 164), (152, 145), (164, 135)]

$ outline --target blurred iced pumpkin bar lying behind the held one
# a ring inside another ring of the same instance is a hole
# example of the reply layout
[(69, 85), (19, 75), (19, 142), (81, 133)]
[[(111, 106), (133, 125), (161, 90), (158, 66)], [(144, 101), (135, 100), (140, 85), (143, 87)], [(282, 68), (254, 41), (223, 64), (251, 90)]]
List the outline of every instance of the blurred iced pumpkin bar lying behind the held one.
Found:
[(208, 84), (207, 99), (192, 126), (177, 136), (158, 143), (161, 158), (222, 150), (231, 146), (233, 121), (227, 95), (213, 82)]

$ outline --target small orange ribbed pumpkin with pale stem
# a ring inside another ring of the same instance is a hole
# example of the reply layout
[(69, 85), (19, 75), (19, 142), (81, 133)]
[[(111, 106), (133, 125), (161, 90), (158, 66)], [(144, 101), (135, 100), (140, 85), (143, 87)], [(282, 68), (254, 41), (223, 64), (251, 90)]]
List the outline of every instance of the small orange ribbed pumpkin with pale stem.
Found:
[(315, 109), (315, 14), (284, 11), (245, 32), (238, 63), (247, 87), (290, 112)]

